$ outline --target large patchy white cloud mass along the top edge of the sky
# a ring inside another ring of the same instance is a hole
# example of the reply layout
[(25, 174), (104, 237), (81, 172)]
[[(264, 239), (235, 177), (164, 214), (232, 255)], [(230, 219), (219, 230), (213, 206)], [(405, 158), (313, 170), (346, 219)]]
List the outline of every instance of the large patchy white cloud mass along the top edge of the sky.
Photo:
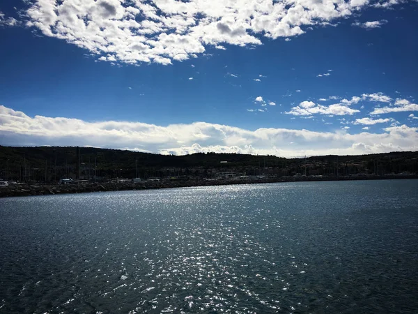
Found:
[[(395, 1), (395, 0), (390, 0)], [(349, 17), (366, 0), (32, 0), (24, 21), (45, 36), (124, 63), (184, 61), (208, 47), (261, 45)]]

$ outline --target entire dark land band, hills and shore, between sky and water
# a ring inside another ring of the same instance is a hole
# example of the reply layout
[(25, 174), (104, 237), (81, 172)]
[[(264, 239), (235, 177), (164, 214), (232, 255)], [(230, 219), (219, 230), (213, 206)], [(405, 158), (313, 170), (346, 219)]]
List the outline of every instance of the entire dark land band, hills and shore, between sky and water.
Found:
[(0, 147), (0, 197), (288, 181), (418, 178), (418, 152), (281, 158)]

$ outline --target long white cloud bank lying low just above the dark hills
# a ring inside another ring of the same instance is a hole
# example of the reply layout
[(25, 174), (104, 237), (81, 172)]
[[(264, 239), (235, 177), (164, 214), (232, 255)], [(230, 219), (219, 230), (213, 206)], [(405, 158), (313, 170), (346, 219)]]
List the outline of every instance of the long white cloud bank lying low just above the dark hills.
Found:
[[(206, 122), (157, 126), (132, 121), (89, 122), (63, 117), (29, 117), (4, 106), (0, 106), (0, 136), (4, 145), (79, 145), (161, 154), (214, 151), (291, 157), (418, 150), (418, 128), (405, 125), (385, 128), (383, 133), (359, 134), (343, 130), (247, 130)], [(291, 147), (290, 142), (293, 142)]]

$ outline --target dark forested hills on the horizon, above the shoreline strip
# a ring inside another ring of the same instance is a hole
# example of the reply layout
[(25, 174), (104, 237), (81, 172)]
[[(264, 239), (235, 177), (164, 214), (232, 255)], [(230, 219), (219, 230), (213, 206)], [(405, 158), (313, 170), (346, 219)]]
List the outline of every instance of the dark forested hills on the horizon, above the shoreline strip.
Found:
[[(165, 156), (94, 147), (1, 147), (0, 178), (47, 181), (61, 177), (213, 176), (230, 171), (247, 175), (351, 175), (418, 172), (418, 152), (404, 151), (362, 156), (281, 158), (245, 154)], [(221, 163), (224, 162), (224, 163)], [(226, 162), (226, 163), (225, 163)], [(79, 165), (79, 167), (77, 167)]]

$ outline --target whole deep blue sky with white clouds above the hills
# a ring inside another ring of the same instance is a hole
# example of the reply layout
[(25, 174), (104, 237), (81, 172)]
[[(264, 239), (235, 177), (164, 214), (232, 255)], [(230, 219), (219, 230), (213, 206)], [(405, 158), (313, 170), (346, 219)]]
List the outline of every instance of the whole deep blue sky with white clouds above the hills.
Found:
[(417, 151), (417, 13), (417, 0), (3, 0), (0, 144)]

